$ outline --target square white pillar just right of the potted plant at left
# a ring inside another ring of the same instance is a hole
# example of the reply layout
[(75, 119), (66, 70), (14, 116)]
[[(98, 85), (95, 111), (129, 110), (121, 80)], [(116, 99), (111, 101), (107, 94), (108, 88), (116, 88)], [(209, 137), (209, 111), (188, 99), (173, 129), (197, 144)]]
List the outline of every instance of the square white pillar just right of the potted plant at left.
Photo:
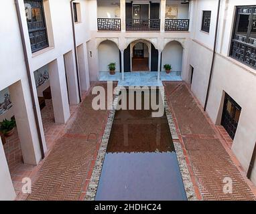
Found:
[[(36, 128), (36, 119), (33, 110), (31, 93), (28, 80), (16, 82), (9, 86), (13, 113), (15, 116), (19, 141), (21, 145), (24, 163), (37, 165), (42, 159), (40, 140)], [(36, 106), (38, 108), (39, 106)], [(42, 122), (42, 121), (41, 121)], [(41, 124), (42, 125), (42, 124)], [(44, 152), (46, 152), (46, 142), (42, 136)]]

